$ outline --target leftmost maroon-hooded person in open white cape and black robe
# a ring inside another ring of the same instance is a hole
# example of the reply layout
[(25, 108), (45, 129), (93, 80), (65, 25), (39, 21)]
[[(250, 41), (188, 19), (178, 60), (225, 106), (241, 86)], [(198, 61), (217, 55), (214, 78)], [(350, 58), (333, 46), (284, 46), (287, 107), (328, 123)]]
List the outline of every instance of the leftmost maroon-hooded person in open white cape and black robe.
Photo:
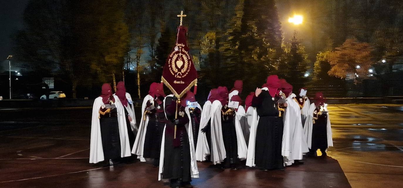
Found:
[(90, 163), (104, 161), (105, 165), (131, 155), (125, 110), (119, 97), (112, 95), (110, 84), (102, 85), (92, 107), (89, 150)]

